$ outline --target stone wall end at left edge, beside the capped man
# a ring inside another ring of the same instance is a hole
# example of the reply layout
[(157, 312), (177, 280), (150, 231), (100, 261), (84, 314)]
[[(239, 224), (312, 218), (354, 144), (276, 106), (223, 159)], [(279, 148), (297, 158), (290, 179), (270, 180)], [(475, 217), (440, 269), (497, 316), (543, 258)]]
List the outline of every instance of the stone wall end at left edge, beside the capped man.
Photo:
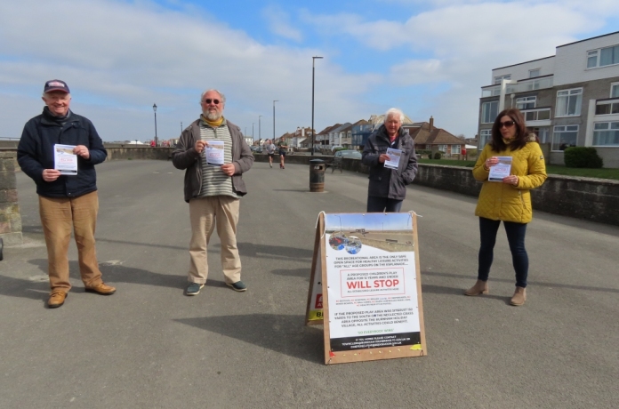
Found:
[(15, 151), (0, 152), (0, 237), (4, 245), (20, 245), (21, 215), (15, 180)]

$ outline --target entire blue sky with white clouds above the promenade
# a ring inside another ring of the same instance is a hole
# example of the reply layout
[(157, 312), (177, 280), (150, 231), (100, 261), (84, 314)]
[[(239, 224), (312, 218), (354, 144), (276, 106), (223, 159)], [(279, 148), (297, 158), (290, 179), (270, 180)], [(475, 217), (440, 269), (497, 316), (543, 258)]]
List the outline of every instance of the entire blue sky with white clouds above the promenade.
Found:
[(362, 0), (203, 2), (20, 0), (0, 4), (0, 118), (19, 138), (42, 108), (46, 80), (68, 82), (71, 108), (103, 140), (178, 137), (202, 91), (255, 138), (311, 123), (355, 122), (388, 108), (477, 132), (492, 68), (619, 30), (616, 0)]

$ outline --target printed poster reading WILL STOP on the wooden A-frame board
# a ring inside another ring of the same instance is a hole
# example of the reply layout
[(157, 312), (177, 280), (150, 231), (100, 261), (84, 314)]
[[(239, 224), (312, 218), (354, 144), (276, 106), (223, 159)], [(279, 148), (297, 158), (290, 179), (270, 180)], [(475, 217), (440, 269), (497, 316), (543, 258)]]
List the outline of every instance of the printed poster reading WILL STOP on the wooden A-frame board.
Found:
[(331, 351), (421, 349), (412, 214), (342, 213), (325, 219)]

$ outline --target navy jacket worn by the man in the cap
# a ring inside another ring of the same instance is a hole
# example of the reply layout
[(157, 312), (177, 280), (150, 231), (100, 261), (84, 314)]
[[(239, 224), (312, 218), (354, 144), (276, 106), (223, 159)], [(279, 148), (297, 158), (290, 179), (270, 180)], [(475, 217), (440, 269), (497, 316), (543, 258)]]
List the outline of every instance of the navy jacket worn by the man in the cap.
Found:
[[(97, 190), (94, 165), (108, 156), (97, 130), (90, 120), (71, 112), (67, 122), (60, 126), (52, 120), (47, 107), (41, 115), (30, 119), (21, 133), (17, 147), (17, 161), (21, 170), (36, 183), (36, 193), (46, 197), (77, 197)], [(53, 145), (84, 145), (90, 159), (77, 156), (77, 174), (60, 175), (57, 180), (43, 180), (44, 169), (54, 168)]]

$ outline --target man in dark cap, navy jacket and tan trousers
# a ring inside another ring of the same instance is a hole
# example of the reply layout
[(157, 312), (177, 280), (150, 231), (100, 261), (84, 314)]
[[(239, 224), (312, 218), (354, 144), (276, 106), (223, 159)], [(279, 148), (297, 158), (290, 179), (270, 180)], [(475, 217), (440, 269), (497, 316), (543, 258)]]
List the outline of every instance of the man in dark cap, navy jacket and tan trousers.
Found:
[[(76, 238), (79, 271), (87, 292), (110, 295), (116, 288), (105, 285), (94, 248), (94, 229), (99, 211), (94, 165), (108, 156), (94, 125), (68, 108), (71, 94), (64, 81), (45, 83), (41, 115), (30, 119), (21, 133), (17, 160), (21, 170), (36, 183), (39, 213), (47, 245), (49, 308), (60, 307), (71, 288), (68, 281), (68, 245), (71, 228)], [(63, 174), (55, 163), (54, 145), (72, 147), (77, 172)]]

